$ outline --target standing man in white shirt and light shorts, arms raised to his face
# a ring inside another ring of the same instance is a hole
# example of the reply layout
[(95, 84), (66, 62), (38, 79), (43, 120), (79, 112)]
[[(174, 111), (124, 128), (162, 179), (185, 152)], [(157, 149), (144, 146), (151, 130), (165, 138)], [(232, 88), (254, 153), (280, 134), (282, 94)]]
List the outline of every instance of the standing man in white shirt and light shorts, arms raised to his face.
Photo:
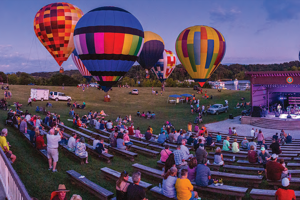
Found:
[[(56, 163), (58, 161), (58, 140), (62, 138), (62, 133), (57, 128), (57, 131), (59, 133), (59, 136), (54, 135), (55, 131), (54, 129), (49, 130), (49, 134), (47, 134), (47, 156), (48, 156), (48, 163), (49, 163), (49, 169), (52, 170), (52, 173), (57, 172)], [(53, 160), (53, 166), (52, 166), (52, 160)]]

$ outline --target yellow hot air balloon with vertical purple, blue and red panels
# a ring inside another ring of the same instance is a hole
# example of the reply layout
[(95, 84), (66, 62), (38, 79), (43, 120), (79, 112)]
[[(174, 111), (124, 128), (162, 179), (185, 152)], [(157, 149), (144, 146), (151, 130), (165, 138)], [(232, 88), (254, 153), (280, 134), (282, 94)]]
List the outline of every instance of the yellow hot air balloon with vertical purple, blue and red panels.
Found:
[(202, 87), (222, 61), (226, 42), (212, 27), (192, 26), (179, 34), (175, 48), (187, 73)]

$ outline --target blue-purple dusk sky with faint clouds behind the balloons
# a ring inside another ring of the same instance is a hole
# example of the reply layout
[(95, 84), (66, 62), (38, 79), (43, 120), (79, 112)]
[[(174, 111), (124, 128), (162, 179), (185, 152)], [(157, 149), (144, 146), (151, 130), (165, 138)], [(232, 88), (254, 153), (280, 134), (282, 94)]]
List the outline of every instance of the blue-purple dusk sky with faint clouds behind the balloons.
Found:
[[(59, 66), (35, 36), (33, 20), (43, 6), (58, 1), (1, 1), (0, 71), (58, 71)], [(226, 40), (221, 63), (272, 64), (298, 60), (300, 1), (64, 1), (83, 13), (102, 6), (132, 13), (144, 31), (160, 35), (176, 53), (176, 38), (194, 25), (208, 25)], [(177, 62), (180, 64), (180, 61)], [(31, 65), (31, 66), (30, 66)], [(62, 65), (76, 69), (71, 56)]]

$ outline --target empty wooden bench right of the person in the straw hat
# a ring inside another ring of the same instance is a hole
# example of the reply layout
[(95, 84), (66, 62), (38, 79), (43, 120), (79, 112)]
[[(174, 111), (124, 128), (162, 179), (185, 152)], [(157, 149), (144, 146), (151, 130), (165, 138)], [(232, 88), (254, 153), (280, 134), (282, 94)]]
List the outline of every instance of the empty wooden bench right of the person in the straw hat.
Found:
[(79, 178), (81, 174), (75, 172), (74, 170), (67, 171), (67, 175), (70, 177), (73, 183), (79, 184), (81, 187), (84, 187), (101, 200), (108, 200), (114, 196), (112, 192), (104, 189), (103, 187), (100, 187), (94, 182), (88, 180), (86, 177)]

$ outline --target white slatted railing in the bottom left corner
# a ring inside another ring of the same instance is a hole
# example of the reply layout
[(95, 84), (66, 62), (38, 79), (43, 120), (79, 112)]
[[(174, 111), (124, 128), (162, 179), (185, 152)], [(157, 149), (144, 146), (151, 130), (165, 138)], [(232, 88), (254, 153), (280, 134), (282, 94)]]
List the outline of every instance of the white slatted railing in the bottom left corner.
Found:
[(16, 171), (0, 148), (0, 179), (8, 200), (31, 200)]

